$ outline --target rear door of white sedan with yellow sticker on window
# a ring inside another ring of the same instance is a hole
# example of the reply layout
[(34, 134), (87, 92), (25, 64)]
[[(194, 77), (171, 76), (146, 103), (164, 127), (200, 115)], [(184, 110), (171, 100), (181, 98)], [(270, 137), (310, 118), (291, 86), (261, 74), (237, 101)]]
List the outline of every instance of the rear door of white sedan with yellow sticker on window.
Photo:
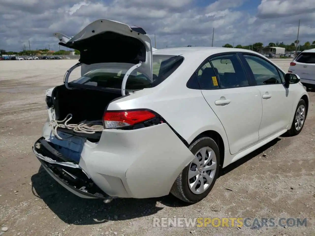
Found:
[(257, 143), (262, 116), (260, 92), (249, 86), (237, 53), (210, 58), (196, 76), (204, 98), (225, 129), (230, 153)]

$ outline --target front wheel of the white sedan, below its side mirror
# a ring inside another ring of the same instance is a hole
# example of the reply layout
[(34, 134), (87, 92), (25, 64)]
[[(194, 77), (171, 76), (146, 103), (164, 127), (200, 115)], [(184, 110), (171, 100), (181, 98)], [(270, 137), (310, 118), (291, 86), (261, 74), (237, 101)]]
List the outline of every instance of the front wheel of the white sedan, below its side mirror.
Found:
[(303, 99), (300, 99), (297, 104), (291, 128), (287, 131), (288, 136), (298, 135), (303, 127), (306, 120), (306, 103)]

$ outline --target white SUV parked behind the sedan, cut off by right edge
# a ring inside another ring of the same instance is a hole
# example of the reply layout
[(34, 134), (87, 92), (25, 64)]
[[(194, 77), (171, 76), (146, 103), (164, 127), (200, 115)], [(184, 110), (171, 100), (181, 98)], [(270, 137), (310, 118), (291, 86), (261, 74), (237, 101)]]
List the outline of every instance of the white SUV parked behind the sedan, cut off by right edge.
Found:
[(315, 49), (302, 51), (290, 63), (288, 72), (299, 75), (306, 88), (315, 88)]

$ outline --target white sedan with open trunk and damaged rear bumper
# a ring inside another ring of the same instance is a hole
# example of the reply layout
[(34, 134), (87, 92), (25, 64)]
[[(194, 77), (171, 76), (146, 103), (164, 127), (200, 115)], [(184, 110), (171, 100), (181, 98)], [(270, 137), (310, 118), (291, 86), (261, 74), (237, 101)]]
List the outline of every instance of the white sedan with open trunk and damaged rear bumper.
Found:
[[(299, 76), (259, 53), (152, 53), (142, 28), (104, 19), (74, 37), (55, 36), (80, 59), (64, 84), (47, 90), (49, 118), (33, 151), (80, 197), (107, 203), (172, 193), (198, 202), (221, 168), (304, 126), (309, 97)], [(79, 66), (81, 77), (69, 82)]]

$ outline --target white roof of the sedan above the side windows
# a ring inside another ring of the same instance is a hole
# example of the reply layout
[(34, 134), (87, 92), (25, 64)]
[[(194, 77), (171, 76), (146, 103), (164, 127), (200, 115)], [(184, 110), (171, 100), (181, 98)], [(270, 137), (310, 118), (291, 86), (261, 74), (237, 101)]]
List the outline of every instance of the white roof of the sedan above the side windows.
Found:
[(226, 52), (250, 52), (256, 53), (251, 50), (242, 49), (242, 48), (219, 48), (219, 47), (182, 47), (182, 48), (163, 48), (157, 49), (153, 52), (154, 55), (185, 55), (185, 56), (193, 56), (196, 53), (198, 54), (205, 54), (211, 56), (217, 53), (226, 53)]

